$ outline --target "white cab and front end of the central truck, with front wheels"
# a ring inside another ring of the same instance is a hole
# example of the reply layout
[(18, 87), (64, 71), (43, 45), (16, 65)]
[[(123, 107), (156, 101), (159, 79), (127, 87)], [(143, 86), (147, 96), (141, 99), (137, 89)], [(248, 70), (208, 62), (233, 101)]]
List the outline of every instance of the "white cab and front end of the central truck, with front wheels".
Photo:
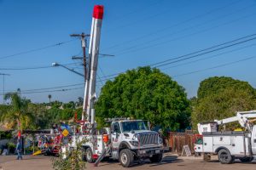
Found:
[(113, 121), (111, 144), (112, 158), (119, 160), (124, 167), (130, 167), (133, 161), (143, 158), (152, 162), (162, 159), (163, 140), (143, 120)]

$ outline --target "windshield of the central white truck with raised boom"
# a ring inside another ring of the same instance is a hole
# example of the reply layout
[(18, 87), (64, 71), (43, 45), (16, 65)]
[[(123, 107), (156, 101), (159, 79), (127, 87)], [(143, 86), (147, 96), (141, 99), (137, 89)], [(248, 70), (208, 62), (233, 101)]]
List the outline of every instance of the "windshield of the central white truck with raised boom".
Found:
[(136, 122), (122, 122), (122, 129), (124, 133), (136, 131), (136, 130), (148, 130), (145, 122), (136, 121)]

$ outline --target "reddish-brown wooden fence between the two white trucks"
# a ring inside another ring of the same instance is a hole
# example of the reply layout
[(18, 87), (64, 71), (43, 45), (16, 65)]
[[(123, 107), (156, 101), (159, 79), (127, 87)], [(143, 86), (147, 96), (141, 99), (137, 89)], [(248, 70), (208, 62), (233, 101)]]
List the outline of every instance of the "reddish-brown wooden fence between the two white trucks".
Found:
[(173, 153), (181, 154), (183, 145), (189, 145), (191, 153), (195, 153), (194, 144), (197, 138), (198, 134), (192, 130), (186, 130), (184, 133), (170, 132), (168, 144)]

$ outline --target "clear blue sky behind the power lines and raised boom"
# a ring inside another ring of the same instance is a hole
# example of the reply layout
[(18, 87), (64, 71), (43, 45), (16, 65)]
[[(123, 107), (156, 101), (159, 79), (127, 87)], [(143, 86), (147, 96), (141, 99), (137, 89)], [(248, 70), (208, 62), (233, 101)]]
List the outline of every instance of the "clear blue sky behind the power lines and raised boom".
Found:
[[(0, 73), (10, 75), (5, 77), (5, 91), (20, 88), (22, 96), (33, 102), (47, 102), (48, 94), (53, 100), (64, 102), (83, 97), (83, 85), (54, 88), (84, 82), (83, 77), (64, 68), (21, 71), (3, 68), (50, 66), (58, 62), (71, 64), (67, 66), (83, 73), (80, 61), (71, 59), (73, 55), (81, 55), (80, 41), (69, 35), (90, 33), (95, 4), (105, 8), (100, 51), (115, 55), (99, 59), (98, 76), (102, 80), (137, 66), (151, 65), (256, 33), (255, 0), (0, 0)], [(70, 40), (73, 41), (67, 42)], [(67, 43), (44, 48), (58, 42)], [(255, 43), (255, 40), (241, 43), (162, 66), (160, 70), (182, 85), (189, 98), (196, 95), (199, 83), (207, 77), (234, 77), (256, 88), (254, 58), (205, 70), (255, 56)], [(38, 48), (44, 49), (19, 54)], [(11, 56), (13, 54), (16, 55)], [(195, 62), (196, 59), (202, 60)], [(193, 63), (189, 64), (191, 61)], [(193, 71), (198, 72), (178, 76)], [(98, 92), (104, 82), (97, 82)], [(29, 91), (32, 89), (41, 90)], [(61, 89), (70, 90), (48, 92)], [(2, 76), (0, 94), (3, 94)], [(3, 95), (0, 103), (3, 103)]]

